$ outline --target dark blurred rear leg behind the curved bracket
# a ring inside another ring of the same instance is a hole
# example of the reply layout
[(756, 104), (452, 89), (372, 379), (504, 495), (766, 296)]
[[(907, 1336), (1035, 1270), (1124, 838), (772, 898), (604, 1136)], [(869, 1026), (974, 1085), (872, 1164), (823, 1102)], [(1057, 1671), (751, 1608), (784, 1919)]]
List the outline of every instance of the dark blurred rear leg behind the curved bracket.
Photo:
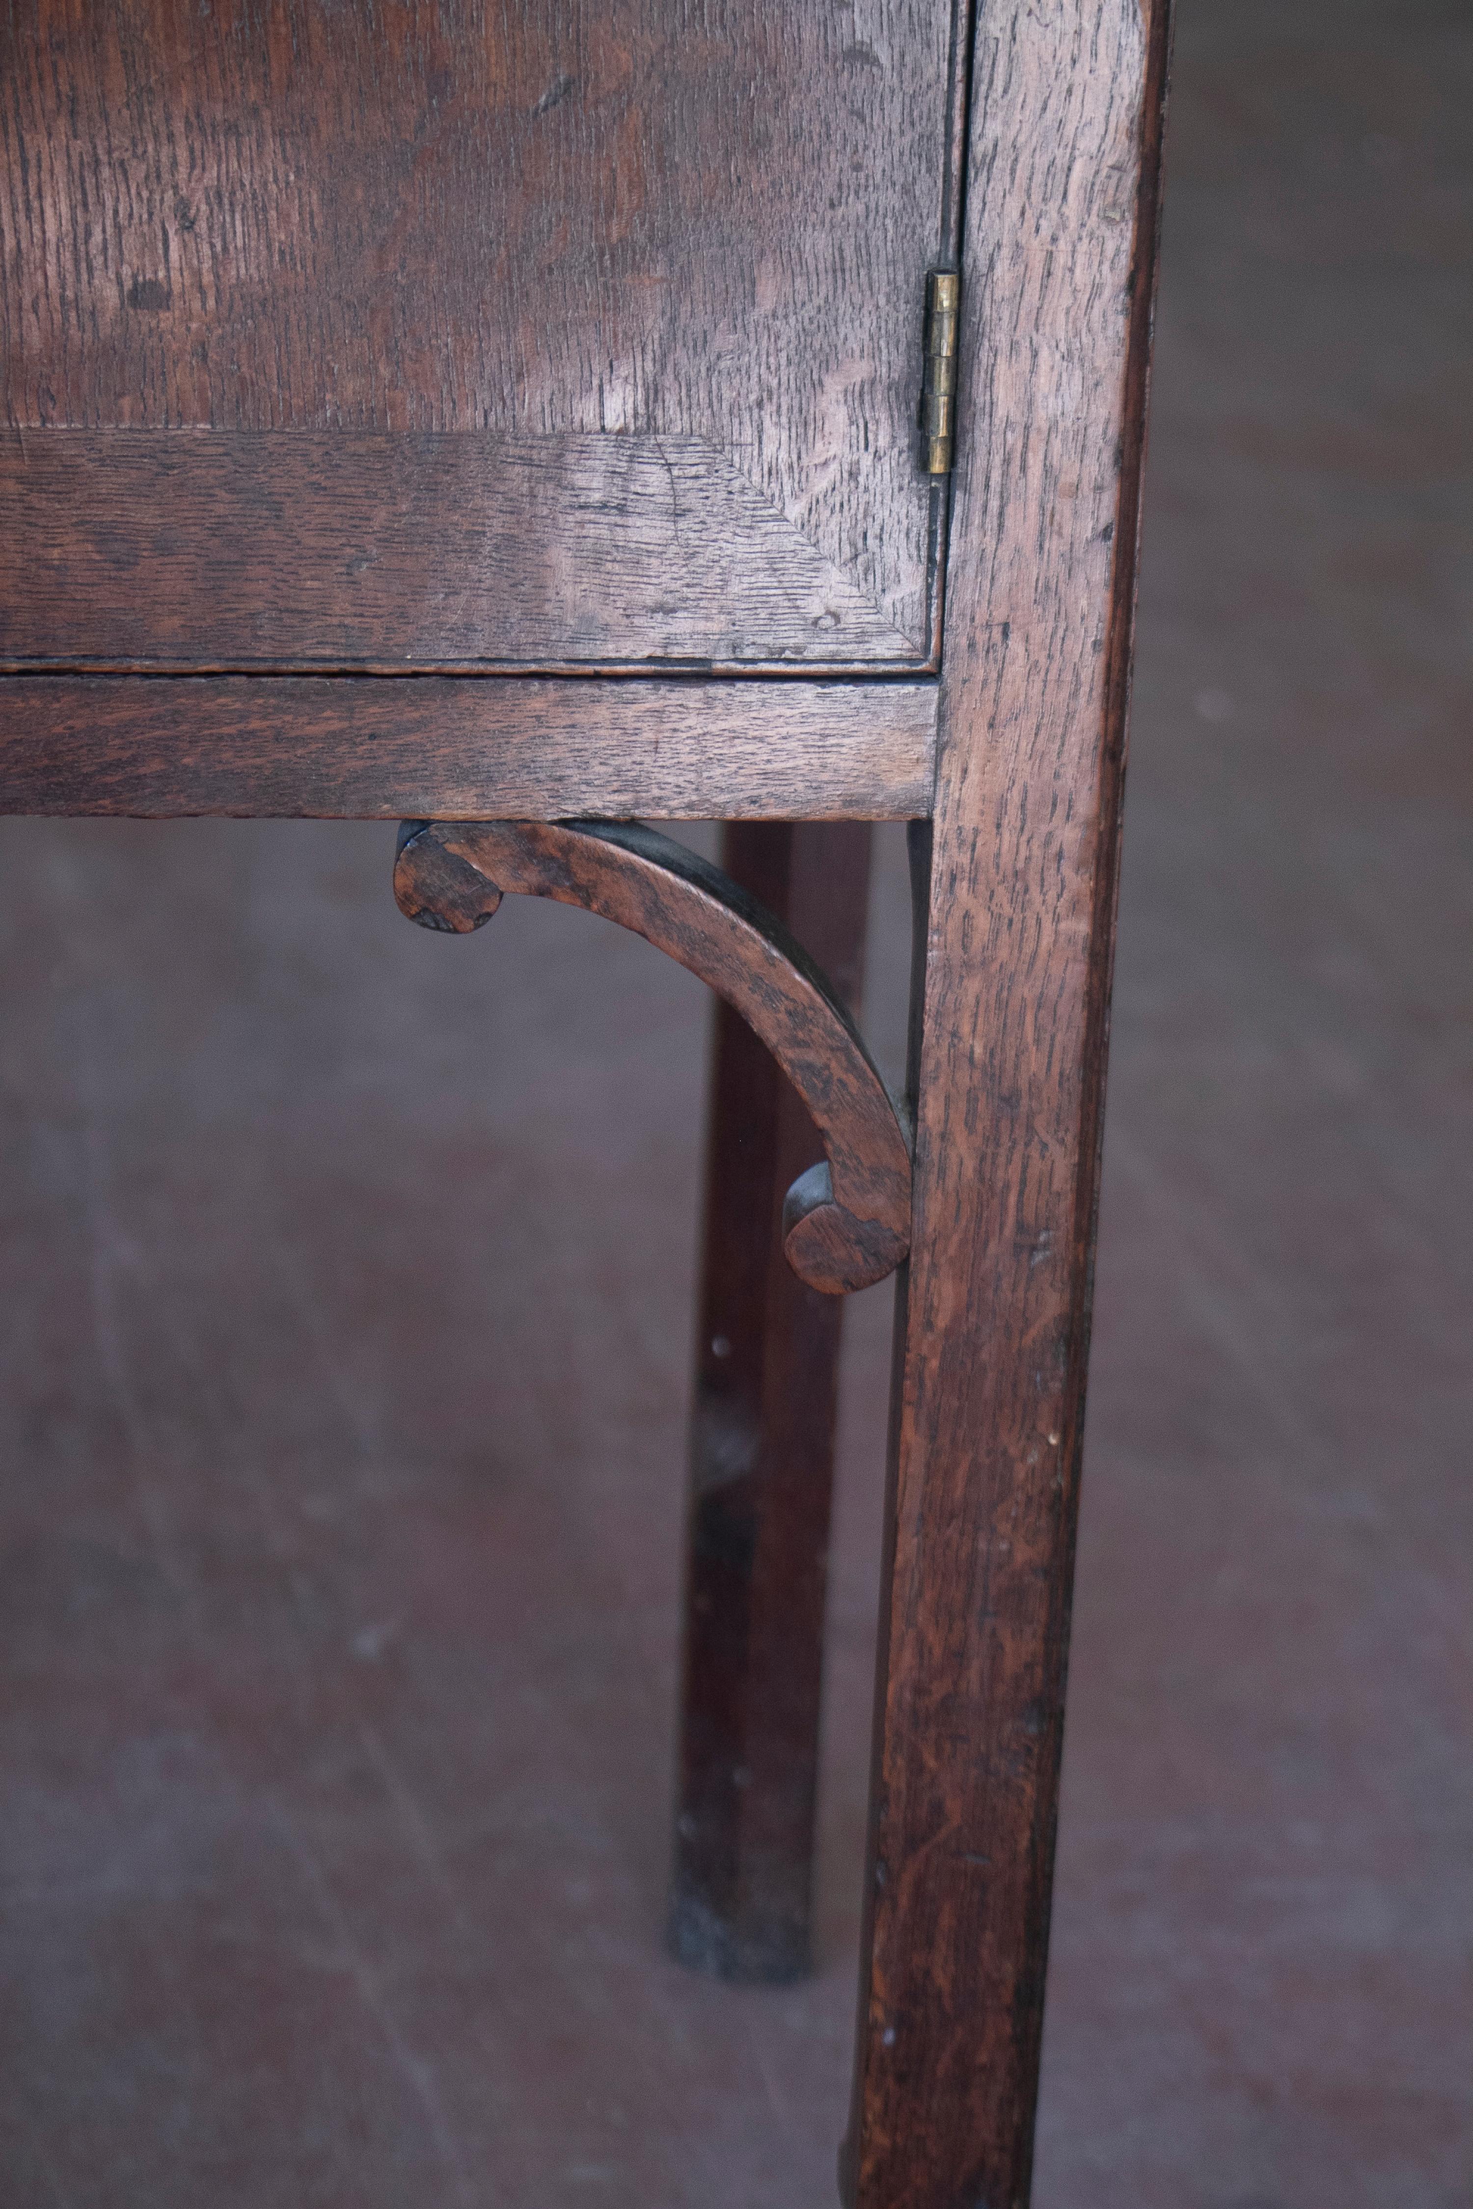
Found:
[[(868, 824), (729, 824), (722, 868), (857, 1012)], [(718, 1005), (669, 1940), (685, 1964), (724, 1979), (784, 1981), (810, 1966), (844, 1306), (786, 1266), (782, 1202), (819, 1158), (802, 1098)]]

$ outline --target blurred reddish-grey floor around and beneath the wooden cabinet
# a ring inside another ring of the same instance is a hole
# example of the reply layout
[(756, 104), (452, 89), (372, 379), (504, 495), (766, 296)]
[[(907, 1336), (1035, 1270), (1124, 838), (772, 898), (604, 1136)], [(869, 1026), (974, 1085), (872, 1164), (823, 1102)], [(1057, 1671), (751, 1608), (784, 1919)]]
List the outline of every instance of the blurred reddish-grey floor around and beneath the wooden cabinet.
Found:
[[(1184, 0), (1040, 2209), (1469, 2200), (1469, 113), (1464, 0)], [(0, 2209), (817, 2209), (888, 1297), (822, 1973), (707, 1986), (702, 996), (389, 850), (0, 824)]]

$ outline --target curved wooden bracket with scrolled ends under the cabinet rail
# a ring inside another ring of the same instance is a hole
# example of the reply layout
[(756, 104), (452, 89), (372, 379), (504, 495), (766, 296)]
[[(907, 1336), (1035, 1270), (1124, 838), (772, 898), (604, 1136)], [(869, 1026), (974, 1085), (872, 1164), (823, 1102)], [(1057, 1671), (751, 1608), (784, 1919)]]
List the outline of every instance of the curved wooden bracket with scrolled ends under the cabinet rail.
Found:
[(855, 1023), (771, 912), (685, 844), (638, 822), (404, 822), (400, 910), (468, 934), (501, 897), (557, 897), (669, 952), (733, 1005), (813, 1113), (826, 1164), (788, 1191), (793, 1272), (841, 1297), (910, 1248), (910, 1142)]

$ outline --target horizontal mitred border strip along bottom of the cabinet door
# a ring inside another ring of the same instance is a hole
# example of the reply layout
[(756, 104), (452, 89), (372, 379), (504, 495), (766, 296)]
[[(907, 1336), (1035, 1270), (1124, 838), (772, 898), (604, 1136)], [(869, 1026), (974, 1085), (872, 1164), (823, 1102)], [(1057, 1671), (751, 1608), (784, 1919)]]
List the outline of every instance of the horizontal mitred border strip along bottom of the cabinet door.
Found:
[(0, 446), (0, 667), (905, 665), (698, 437), (33, 431)]

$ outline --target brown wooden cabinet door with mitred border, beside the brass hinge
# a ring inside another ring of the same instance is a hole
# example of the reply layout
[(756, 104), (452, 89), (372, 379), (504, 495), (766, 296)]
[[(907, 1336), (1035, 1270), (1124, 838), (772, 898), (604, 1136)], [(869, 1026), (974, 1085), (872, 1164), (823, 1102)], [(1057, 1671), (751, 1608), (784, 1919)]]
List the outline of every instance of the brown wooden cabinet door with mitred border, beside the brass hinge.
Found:
[(952, 0), (18, 0), (4, 649), (928, 660), (952, 62)]

